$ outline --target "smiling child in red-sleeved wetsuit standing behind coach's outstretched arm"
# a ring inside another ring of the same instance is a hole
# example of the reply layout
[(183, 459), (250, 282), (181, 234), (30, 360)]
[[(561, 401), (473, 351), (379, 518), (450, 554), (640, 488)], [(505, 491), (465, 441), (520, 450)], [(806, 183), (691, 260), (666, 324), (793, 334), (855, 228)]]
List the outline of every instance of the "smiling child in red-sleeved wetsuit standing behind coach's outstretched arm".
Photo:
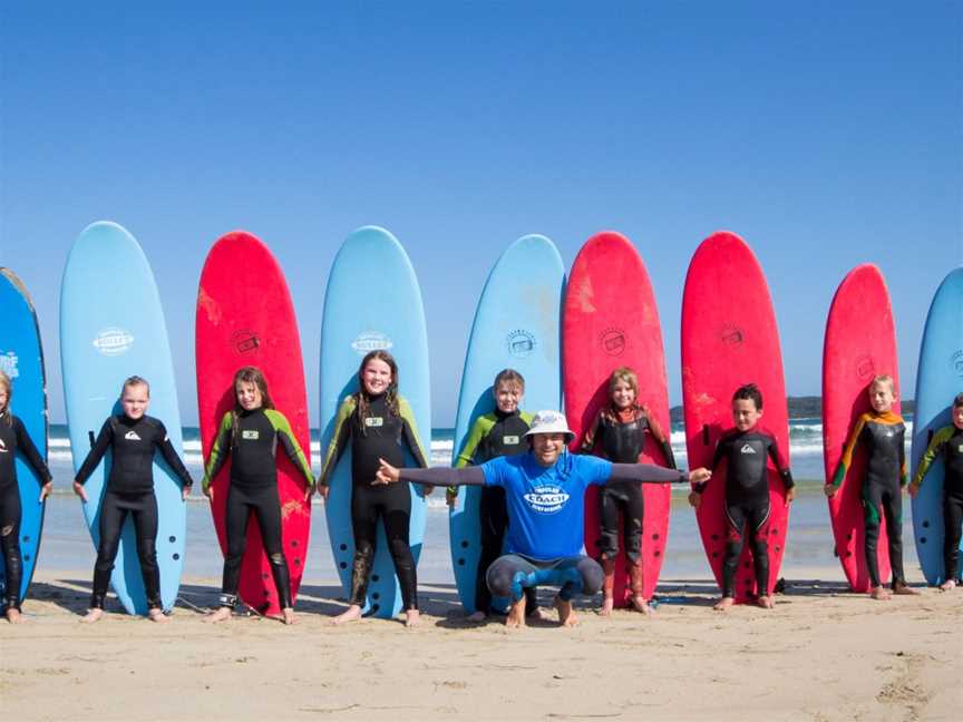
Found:
[[(609, 377), (609, 404), (600, 409), (580, 451), (592, 453), (615, 464), (638, 464), (645, 446), (645, 431), (662, 449), (669, 468), (675, 468), (672, 446), (649, 409), (639, 403), (639, 378), (628, 367), (621, 367)], [(612, 614), (614, 606), (615, 559), (619, 555), (619, 514), (625, 537), (625, 557), (629, 560), (631, 603), (638, 612), (649, 614), (642, 584), (642, 525), (645, 516), (642, 489), (638, 484), (612, 481), (599, 491), (602, 523), (602, 557), (605, 573), (602, 585), (602, 615)]]

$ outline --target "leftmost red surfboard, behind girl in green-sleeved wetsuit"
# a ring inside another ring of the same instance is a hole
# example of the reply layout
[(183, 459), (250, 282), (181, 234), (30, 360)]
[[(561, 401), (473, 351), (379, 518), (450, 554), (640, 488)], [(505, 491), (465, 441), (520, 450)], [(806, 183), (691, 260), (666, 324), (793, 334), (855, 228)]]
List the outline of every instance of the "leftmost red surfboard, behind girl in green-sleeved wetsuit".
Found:
[[(206, 459), (224, 413), (234, 406), (232, 381), (241, 367), (254, 365), (268, 379), (278, 410), (310, 453), (308, 397), (294, 306), (284, 274), (271, 251), (243, 231), (223, 236), (207, 254), (197, 290), (197, 410)], [(222, 552), (226, 550), (225, 503), (231, 458), (213, 480), (211, 513)], [(284, 555), (296, 597), (308, 557), (311, 506), (304, 501), (304, 477), (284, 453), (278, 455), (278, 490)], [(247, 527), (241, 568), (241, 599), (261, 614), (278, 614), (278, 593), (256, 519)]]

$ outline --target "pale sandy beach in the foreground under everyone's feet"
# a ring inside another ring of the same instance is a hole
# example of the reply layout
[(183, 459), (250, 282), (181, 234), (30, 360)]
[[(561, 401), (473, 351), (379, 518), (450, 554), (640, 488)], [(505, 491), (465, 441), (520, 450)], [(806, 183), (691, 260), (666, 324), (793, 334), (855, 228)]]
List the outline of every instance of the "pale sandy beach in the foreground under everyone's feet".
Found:
[[(960, 720), (963, 591), (874, 602), (835, 569), (789, 582), (774, 611), (711, 609), (708, 579), (669, 580), (651, 618), (580, 608), (524, 631), (461, 619), (422, 586), (422, 623), (333, 627), (340, 587), (302, 587), (299, 624), (212, 626), (111, 613), (78, 623), (81, 573), (38, 574), (23, 624), (0, 624), (8, 720)], [(912, 580), (912, 579), (911, 579)], [(917, 579), (918, 582), (918, 579)], [(182, 595), (213, 604), (214, 579)], [(542, 596), (551, 601), (546, 592)], [(597, 598), (592, 601), (597, 603)], [(117, 606), (111, 609), (117, 609)]]

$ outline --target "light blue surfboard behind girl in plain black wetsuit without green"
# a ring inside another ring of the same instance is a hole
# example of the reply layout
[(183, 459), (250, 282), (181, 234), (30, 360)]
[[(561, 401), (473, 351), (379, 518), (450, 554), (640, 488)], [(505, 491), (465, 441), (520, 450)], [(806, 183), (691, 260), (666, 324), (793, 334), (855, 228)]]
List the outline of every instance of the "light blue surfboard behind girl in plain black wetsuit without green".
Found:
[[(87, 226), (70, 248), (60, 290), (60, 363), (75, 471), (90, 450), (91, 437), (108, 416), (120, 412), (120, 387), (134, 374), (150, 383), (147, 414), (164, 422), (174, 449), (183, 455), (174, 367), (154, 274), (140, 246), (116, 223)], [(89, 501), (84, 518), (95, 547), (109, 469), (108, 451), (86, 484)], [(160, 597), (168, 611), (177, 599), (184, 567), (186, 509), (181, 482), (159, 453), (154, 460), (154, 492)], [(129, 516), (110, 584), (128, 613), (147, 612)]]

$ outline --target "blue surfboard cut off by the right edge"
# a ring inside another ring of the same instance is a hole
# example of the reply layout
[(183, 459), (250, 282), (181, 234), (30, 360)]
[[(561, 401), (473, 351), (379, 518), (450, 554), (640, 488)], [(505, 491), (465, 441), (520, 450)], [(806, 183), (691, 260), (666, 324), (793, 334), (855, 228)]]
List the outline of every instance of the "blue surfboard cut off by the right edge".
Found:
[[(912, 470), (933, 435), (953, 423), (950, 407), (963, 391), (963, 267), (951, 271), (940, 284), (920, 345), (916, 371), (916, 409), (913, 413)], [(931, 465), (920, 494), (913, 499), (913, 536), (923, 576), (930, 584), (946, 580), (943, 564), (942, 455)]]

